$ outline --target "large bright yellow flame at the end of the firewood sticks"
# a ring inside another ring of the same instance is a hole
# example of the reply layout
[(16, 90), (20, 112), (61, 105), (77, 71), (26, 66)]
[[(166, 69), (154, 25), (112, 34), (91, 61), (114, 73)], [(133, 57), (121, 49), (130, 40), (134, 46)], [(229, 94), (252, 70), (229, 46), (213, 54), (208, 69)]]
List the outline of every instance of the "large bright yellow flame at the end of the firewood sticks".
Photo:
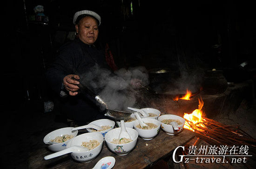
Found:
[(192, 131), (194, 131), (194, 129), (192, 129), (190, 125), (205, 127), (205, 125), (201, 124), (202, 122), (205, 121), (205, 119), (202, 118), (202, 106), (203, 106), (202, 98), (198, 99), (198, 101), (199, 101), (198, 109), (195, 109), (190, 114), (184, 113), (184, 116), (183, 116), (183, 118), (186, 119), (184, 128)]

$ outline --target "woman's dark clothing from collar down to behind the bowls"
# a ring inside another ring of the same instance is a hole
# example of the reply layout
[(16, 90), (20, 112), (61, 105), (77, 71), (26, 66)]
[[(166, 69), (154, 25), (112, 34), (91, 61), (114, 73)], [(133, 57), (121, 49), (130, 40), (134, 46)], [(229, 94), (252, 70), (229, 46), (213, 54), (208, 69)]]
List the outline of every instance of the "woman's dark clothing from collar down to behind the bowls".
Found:
[[(101, 73), (99, 69), (105, 69), (105, 72), (110, 73), (104, 53), (93, 45), (84, 44), (79, 38), (75, 38), (61, 47), (56, 60), (46, 71), (46, 78), (50, 88), (58, 96), (63, 90), (63, 78), (70, 74), (79, 75), (81, 83), (97, 94), (102, 88), (98, 86), (100, 82), (96, 78)], [(81, 94), (70, 96), (67, 93), (67, 97), (58, 99), (61, 113), (68, 119), (86, 123), (104, 117), (94, 100), (87, 99)]]

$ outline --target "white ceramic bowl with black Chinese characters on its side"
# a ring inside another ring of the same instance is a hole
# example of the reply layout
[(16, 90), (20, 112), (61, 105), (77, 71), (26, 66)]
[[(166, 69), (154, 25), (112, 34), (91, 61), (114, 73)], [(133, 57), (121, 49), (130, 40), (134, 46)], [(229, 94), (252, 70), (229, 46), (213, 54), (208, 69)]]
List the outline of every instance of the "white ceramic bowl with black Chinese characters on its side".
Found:
[(98, 145), (93, 150), (85, 151), (85, 152), (72, 152), (71, 156), (74, 160), (81, 162), (81, 163), (88, 163), (92, 161), (98, 154), (101, 152), (102, 145), (103, 145), (103, 136), (101, 133), (98, 132), (88, 132), (85, 134), (81, 134), (79, 136), (76, 136), (73, 140), (67, 143), (67, 148), (73, 146), (73, 145), (82, 145), (82, 142), (88, 142), (90, 140), (97, 140), (100, 145)]

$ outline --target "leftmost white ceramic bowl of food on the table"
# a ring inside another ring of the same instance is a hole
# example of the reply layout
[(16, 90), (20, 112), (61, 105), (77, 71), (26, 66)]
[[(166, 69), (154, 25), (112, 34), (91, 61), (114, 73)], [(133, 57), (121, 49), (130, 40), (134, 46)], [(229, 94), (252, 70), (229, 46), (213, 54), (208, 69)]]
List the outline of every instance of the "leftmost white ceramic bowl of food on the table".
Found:
[[(72, 135), (72, 136), (75, 137), (75, 136), (77, 136), (78, 131), (72, 131), (73, 128), (74, 128), (74, 127), (65, 127), (65, 128), (61, 128), (61, 129), (54, 130), (54, 131), (48, 133), (48, 134), (44, 137), (43, 141), (44, 141), (45, 144), (48, 144), (48, 143), (47, 143), (48, 141), (50, 141), (50, 140), (52, 140), (52, 139), (54, 139), (54, 138), (56, 138), (56, 137), (58, 137), (58, 136), (63, 136), (63, 135), (65, 135), (65, 134)], [(74, 137), (71, 138), (70, 140), (74, 139)], [(52, 150), (52, 151), (55, 151), (55, 152), (64, 150), (64, 149), (66, 149), (67, 143), (68, 143), (70, 140), (67, 140), (67, 141), (65, 141), (65, 142), (63, 142), (63, 143), (50, 144), (50, 145), (48, 146), (48, 149), (49, 149), (49, 150)]]

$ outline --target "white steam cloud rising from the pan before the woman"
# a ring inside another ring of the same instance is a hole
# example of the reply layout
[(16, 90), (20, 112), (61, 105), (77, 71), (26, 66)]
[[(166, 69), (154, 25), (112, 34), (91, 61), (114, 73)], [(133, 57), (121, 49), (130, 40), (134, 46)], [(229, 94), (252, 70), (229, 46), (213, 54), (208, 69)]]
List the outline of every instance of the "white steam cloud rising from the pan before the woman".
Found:
[(108, 69), (100, 68), (97, 64), (81, 75), (82, 84), (90, 88), (112, 110), (127, 110), (136, 102), (134, 88), (131, 81), (140, 79), (143, 85), (148, 85), (148, 72), (145, 67), (119, 69), (112, 73)]

